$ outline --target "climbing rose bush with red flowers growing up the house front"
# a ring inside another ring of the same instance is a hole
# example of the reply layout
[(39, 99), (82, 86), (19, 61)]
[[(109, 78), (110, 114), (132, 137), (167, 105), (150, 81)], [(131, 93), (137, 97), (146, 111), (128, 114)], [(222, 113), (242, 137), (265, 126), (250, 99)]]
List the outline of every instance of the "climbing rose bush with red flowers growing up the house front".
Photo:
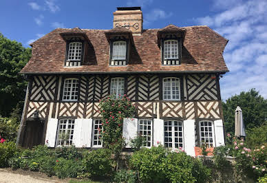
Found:
[(136, 107), (131, 104), (126, 95), (116, 98), (107, 96), (100, 100), (100, 114), (103, 116), (103, 130), (98, 129), (102, 136), (104, 147), (118, 154), (123, 148), (122, 139), (123, 118), (133, 118)]

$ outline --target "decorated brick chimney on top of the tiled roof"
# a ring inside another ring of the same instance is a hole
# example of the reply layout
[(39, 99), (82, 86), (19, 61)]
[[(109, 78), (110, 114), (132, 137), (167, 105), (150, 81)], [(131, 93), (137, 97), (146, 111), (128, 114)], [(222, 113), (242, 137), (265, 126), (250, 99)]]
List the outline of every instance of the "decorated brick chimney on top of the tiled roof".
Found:
[(133, 34), (142, 33), (142, 11), (140, 7), (117, 8), (114, 14), (113, 28), (122, 27)]

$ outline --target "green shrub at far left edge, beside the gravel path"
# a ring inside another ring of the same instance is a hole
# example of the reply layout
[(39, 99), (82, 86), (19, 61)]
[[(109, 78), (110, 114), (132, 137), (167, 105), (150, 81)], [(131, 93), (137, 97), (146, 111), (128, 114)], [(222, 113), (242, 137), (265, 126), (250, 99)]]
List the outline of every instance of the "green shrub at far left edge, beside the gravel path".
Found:
[(0, 167), (8, 166), (8, 160), (17, 152), (14, 142), (0, 143)]

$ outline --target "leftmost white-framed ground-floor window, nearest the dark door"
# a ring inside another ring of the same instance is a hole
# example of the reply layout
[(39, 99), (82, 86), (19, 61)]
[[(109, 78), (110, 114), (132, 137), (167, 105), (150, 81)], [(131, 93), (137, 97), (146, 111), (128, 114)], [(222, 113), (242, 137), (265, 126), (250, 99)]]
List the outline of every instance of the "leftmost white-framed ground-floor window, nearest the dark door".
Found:
[[(63, 128), (64, 124), (61, 124), (61, 122), (65, 121), (65, 128)], [(61, 126), (62, 125), (62, 126)], [(69, 128), (70, 126), (70, 128)], [(72, 118), (64, 118), (58, 120), (58, 129), (56, 133), (56, 147), (61, 147), (62, 145), (72, 145), (73, 142), (73, 135), (74, 135), (74, 127), (75, 127), (75, 120)], [(61, 134), (63, 133), (67, 134), (68, 131), (70, 131), (69, 140), (62, 140)], [(64, 144), (62, 144), (62, 141)], [(67, 141), (67, 142), (66, 142)]]

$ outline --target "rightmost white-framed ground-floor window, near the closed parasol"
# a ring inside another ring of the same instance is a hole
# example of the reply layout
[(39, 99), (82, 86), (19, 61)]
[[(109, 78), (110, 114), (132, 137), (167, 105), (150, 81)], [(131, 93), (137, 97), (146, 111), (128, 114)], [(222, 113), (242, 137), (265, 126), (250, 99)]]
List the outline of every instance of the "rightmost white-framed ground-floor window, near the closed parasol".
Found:
[[(201, 131), (201, 123), (202, 122), (207, 122), (207, 126), (205, 126), (205, 124), (204, 124), (204, 137), (202, 137), (202, 131)], [(211, 124), (211, 131), (209, 130), (209, 123)], [(208, 131), (206, 132), (206, 130), (205, 130), (205, 127), (208, 127)], [(205, 142), (206, 142), (206, 139), (208, 139), (208, 142), (206, 143), (207, 144), (207, 146), (209, 147), (209, 148), (211, 148), (211, 147), (215, 147), (215, 132), (214, 132), (214, 122), (213, 121), (211, 121), (211, 120), (201, 120), (200, 122), (199, 122), (199, 129), (200, 129), (200, 147), (201, 147), (201, 145), (202, 144), (204, 144)], [(206, 137), (206, 133), (208, 133), (208, 136)], [(212, 135), (212, 140), (213, 140), (213, 142), (210, 142), (210, 140), (211, 140), (211, 137), (210, 137), (210, 134), (209, 133), (211, 133), (211, 135)], [(205, 142), (202, 142), (202, 138), (204, 138), (204, 141)]]

